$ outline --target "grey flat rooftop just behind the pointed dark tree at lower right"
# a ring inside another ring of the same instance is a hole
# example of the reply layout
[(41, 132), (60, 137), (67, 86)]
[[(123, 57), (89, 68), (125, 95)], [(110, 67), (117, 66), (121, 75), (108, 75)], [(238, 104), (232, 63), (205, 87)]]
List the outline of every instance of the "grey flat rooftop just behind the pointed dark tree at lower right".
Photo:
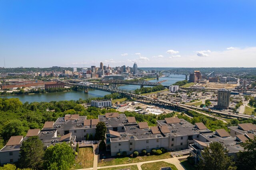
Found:
[(215, 132), (204, 133), (201, 135), (204, 136), (208, 141), (222, 143), (223, 146), (228, 148), (229, 153), (239, 152), (240, 150), (244, 150), (244, 148), (240, 146), (240, 144), (238, 144), (239, 141), (236, 140), (236, 137), (228, 136), (228, 137), (222, 138), (216, 135)]

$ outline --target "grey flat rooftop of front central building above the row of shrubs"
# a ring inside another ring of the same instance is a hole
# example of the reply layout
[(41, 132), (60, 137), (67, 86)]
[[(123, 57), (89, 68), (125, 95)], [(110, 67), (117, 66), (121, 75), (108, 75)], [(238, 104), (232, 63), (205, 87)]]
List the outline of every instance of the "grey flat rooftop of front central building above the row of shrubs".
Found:
[(111, 142), (164, 137), (162, 134), (152, 134), (150, 128), (139, 128), (138, 125), (125, 126), (125, 130), (126, 132), (119, 133), (121, 137), (110, 138)]

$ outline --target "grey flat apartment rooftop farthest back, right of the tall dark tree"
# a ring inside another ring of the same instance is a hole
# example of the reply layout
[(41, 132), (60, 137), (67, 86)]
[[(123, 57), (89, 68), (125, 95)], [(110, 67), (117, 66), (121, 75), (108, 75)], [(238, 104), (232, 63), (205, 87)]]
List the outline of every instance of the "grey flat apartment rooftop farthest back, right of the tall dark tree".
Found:
[(127, 117), (124, 114), (118, 114), (117, 117), (106, 117), (105, 115), (99, 115), (100, 122), (104, 122), (106, 127), (120, 127), (120, 126), (129, 126), (137, 125), (136, 122), (128, 122)]

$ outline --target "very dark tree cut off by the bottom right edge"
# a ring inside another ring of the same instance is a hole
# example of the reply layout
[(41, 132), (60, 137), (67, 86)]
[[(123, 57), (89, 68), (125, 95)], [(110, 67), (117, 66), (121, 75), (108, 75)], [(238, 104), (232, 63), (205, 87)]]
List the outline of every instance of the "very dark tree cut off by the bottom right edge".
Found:
[(239, 170), (256, 169), (256, 136), (245, 143), (242, 143), (246, 151), (237, 154), (237, 167)]

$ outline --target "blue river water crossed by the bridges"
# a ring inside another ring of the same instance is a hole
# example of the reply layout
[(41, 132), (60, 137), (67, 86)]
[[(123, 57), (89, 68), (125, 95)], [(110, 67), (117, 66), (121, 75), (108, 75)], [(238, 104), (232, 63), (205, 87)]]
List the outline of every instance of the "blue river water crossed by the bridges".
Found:
[[(162, 85), (171, 85), (177, 81), (182, 81), (185, 79), (185, 75), (166, 75), (165, 77), (160, 77), (158, 81), (164, 81)], [(158, 82), (156, 79), (150, 80), (150, 82)], [(146, 87), (146, 86), (145, 86)], [(135, 90), (140, 88), (139, 85), (121, 85), (119, 88), (127, 90)], [(78, 99), (89, 99), (95, 97), (104, 97), (105, 95), (110, 94), (105, 91), (89, 89), (88, 93), (84, 91), (67, 91), (67, 92), (56, 92), (56, 93), (40, 93), (32, 95), (9, 95), (9, 96), (0, 96), (1, 98), (18, 98), (22, 103), (28, 101), (31, 102), (50, 102), (50, 101), (64, 101), (64, 100), (78, 100)]]

